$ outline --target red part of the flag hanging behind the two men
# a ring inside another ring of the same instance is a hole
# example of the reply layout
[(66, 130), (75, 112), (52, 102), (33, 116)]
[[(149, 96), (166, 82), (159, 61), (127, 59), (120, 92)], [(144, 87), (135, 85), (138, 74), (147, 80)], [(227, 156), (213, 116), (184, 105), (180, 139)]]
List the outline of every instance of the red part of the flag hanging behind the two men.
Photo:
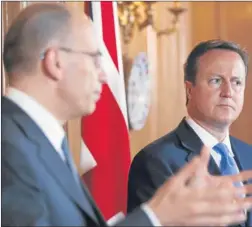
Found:
[[(101, 4), (104, 41), (117, 66), (112, 2)], [(130, 166), (128, 128), (120, 106), (106, 84), (96, 111), (82, 119), (82, 136), (97, 162), (83, 179), (103, 215), (109, 219), (120, 211), (126, 212)]]

